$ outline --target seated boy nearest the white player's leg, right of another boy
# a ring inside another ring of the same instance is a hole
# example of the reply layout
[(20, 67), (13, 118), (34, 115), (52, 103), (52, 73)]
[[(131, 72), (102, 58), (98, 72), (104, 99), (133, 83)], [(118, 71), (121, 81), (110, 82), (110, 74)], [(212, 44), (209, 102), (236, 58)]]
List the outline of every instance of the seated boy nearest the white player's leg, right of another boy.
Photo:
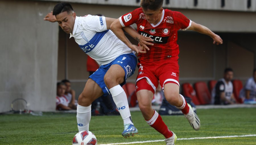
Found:
[(73, 108), (76, 108), (77, 106), (77, 100), (75, 98), (75, 90), (71, 89), (71, 83), (69, 80), (62, 80), (61, 82), (63, 82), (66, 85), (66, 91), (65, 91), (65, 97), (67, 98), (67, 100), (69, 101), (69, 104), (71, 106), (73, 106)]

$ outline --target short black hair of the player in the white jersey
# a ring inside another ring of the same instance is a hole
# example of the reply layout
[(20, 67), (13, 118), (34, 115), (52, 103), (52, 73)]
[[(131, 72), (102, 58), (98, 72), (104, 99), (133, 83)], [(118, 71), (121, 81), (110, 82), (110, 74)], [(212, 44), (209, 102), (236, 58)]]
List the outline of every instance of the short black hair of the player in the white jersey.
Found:
[(58, 15), (60, 13), (67, 12), (67, 13), (73, 13), (74, 10), (70, 3), (61, 2), (54, 6), (52, 15)]

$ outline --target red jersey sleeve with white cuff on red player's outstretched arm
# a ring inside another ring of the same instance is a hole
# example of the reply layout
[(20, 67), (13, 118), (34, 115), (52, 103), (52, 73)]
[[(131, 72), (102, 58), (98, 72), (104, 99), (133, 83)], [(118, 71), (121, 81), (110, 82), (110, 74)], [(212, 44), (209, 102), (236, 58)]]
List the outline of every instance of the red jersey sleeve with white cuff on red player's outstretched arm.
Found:
[(174, 16), (175, 16), (176, 25), (179, 29), (182, 29), (182, 30), (185, 31), (191, 26), (192, 21), (189, 20), (182, 13), (175, 11)]

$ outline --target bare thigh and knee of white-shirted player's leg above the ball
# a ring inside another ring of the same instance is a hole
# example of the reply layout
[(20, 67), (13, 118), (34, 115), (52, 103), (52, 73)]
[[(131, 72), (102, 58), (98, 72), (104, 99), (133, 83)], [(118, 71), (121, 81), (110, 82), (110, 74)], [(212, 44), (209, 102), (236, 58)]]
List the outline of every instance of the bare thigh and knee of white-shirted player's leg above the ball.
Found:
[[(91, 78), (85, 84), (84, 90), (79, 96), (78, 104), (86, 104), (85, 106), (90, 105), (94, 100), (103, 95), (102, 88)], [(83, 106), (83, 105), (82, 105)]]

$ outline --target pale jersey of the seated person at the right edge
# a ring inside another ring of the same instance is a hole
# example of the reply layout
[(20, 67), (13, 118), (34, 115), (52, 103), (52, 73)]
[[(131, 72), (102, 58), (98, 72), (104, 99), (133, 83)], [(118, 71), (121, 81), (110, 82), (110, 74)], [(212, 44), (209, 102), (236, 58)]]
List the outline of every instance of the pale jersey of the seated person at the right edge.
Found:
[(240, 92), (240, 98), (245, 98), (245, 90), (250, 91), (249, 99), (256, 99), (256, 82), (254, 81), (253, 77), (249, 78), (245, 83), (243, 89)]

